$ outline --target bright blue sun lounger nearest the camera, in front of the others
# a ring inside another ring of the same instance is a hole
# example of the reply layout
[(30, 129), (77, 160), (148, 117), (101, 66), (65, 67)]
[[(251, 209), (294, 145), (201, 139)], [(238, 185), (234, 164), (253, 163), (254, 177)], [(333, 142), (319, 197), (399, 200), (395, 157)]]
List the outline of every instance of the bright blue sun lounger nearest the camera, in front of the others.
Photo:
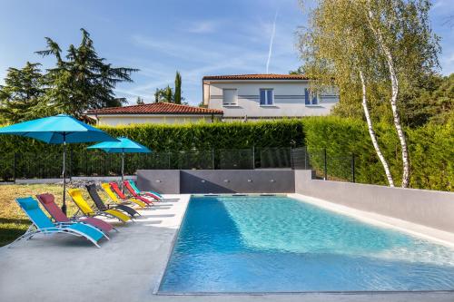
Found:
[(25, 197), (15, 200), (21, 209), (25, 211), (25, 214), (33, 222), (33, 225), (27, 229), (24, 235), (15, 239), (15, 241), (9, 245), (11, 247), (15, 242), (21, 239), (32, 239), (37, 234), (54, 234), (54, 233), (64, 233), (71, 234), (77, 237), (84, 237), (85, 239), (90, 240), (97, 248), (100, 248), (98, 241), (105, 237), (109, 239), (102, 231), (95, 229), (92, 226), (83, 224), (83, 223), (73, 223), (73, 224), (58, 224), (52, 222), (47, 216), (45, 216), (44, 211), (39, 208), (38, 201), (32, 197)]

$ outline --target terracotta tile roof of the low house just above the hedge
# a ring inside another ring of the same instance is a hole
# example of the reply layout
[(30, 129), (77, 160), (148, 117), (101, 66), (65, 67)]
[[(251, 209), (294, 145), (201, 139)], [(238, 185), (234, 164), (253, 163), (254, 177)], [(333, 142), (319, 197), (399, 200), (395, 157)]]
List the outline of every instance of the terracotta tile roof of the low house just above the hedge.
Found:
[(108, 114), (195, 114), (195, 115), (212, 115), (222, 114), (222, 110), (206, 109), (189, 105), (180, 105), (171, 102), (153, 102), (143, 105), (109, 107), (102, 109), (93, 109), (86, 112), (90, 115), (108, 115)]

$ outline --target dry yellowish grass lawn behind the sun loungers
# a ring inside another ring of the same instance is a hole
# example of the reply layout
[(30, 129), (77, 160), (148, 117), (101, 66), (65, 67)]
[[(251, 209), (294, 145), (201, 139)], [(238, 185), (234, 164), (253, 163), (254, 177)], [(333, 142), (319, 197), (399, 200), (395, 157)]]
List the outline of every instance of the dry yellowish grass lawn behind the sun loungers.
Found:
[[(37, 194), (51, 193), (54, 194), (56, 203), (61, 206), (63, 202), (62, 191), (63, 184), (0, 185), (0, 247), (24, 234), (31, 224), (25, 213), (15, 202), (15, 198), (35, 197)], [(86, 190), (83, 191), (86, 198), (88, 194)], [(68, 216), (74, 215), (77, 208), (67, 194), (66, 204)]]

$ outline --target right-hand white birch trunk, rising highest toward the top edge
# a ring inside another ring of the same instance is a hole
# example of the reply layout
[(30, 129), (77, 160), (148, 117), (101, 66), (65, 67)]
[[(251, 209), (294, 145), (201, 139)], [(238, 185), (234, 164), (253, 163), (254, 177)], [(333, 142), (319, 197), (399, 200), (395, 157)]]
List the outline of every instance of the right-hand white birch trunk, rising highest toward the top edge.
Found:
[[(368, 1), (368, 3), (369, 3), (369, 1)], [(370, 24), (370, 29), (377, 37), (377, 42), (379, 43), (381, 50), (385, 54), (386, 62), (388, 64), (388, 69), (390, 72), (390, 81), (391, 81), (390, 104), (391, 104), (391, 109), (392, 109), (393, 122), (394, 122), (394, 126), (396, 128), (396, 131), (398, 133), (398, 137), (399, 137), (399, 141), (400, 141), (400, 149), (401, 149), (401, 153), (402, 153), (403, 171), (402, 171), (401, 187), (408, 188), (409, 184), (410, 184), (410, 160), (409, 160), (409, 151), (408, 151), (408, 147), (407, 147), (407, 140), (405, 137), (405, 132), (403, 132), (403, 129), (402, 129), (402, 125), (400, 122), (400, 114), (399, 114), (399, 110), (397, 107), (397, 98), (399, 95), (399, 81), (398, 81), (398, 78), (396, 75), (396, 70), (394, 68), (393, 58), (392, 58), (390, 49), (383, 41), (383, 37), (381, 35), (380, 28), (375, 28), (372, 24), (373, 14), (370, 10), (370, 7), (368, 7), (368, 16), (369, 16), (368, 20), (369, 20), (369, 24)]]

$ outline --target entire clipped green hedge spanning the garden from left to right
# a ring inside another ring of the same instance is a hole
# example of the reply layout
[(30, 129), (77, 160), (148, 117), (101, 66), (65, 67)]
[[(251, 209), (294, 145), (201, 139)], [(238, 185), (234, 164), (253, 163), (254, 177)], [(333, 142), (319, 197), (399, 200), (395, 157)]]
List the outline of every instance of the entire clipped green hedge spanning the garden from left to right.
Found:
[[(168, 151), (219, 151), (250, 149), (252, 146), (261, 149), (306, 145), (311, 154), (311, 165), (319, 171), (323, 170), (323, 150), (326, 149), (329, 177), (341, 180), (351, 179), (350, 162), (351, 154), (354, 153), (356, 181), (386, 184), (386, 178), (372, 148), (366, 124), (358, 120), (312, 117), (276, 122), (149, 124), (102, 127), (102, 129), (113, 136), (127, 136), (139, 141), (155, 151), (156, 156)], [(400, 144), (394, 128), (386, 124), (377, 124), (376, 130), (382, 151), (390, 161), (392, 175), (396, 184), (399, 185), (401, 176)], [(410, 186), (431, 190), (453, 190), (454, 148), (452, 146), (454, 146), (454, 135), (452, 123), (444, 126), (426, 125), (417, 129), (407, 129), (406, 132), (410, 147)], [(58, 175), (61, 169), (62, 146), (5, 135), (0, 136), (0, 145), (2, 146), (0, 178), (7, 178), (8, 175), (11, 177), (13, 174), (12, 161), (15, 152), (26, 154), (26, 156), (16, 159), (16, 166), (19, 170), (30, 169), (28, 166), (31, 164), (44, 161), (54, 163), (55, 175)], [(85, 162), (91, 162), (86, 165), (87, 167), (99, 163), (105, 170), (103, 161), (107, 161), (108, 170), (118, 169), (118, 157), (107, 156), (101, 151), (86, 151), (85, 148), (85, 144), (70, 145), (70, 149), (73, 151), (74, 166), (79, 167), (79, 170), (73, 171), (73, 175), (86, 172), (84, 170)], [(211, 155), (202, 153), (193, 156), (206, 157), (206, 161), (211, 158)], [(24, 157), (28, 161), (23, 161)], [(134, 159), (141, 161), (133, 156), (129, 157), (128, 161), (134, 161)], [(156, 167), (159, 168), (159, 161), (168, 162), (175, 161), (175, 159), (164, 156), (162, 159), (153, 160), (149, 166), (156, 164)], [(204, 166), (211, 167), (211, 161)], [(128, 162), (127, 167), (134, 169), (133, 162)]]

